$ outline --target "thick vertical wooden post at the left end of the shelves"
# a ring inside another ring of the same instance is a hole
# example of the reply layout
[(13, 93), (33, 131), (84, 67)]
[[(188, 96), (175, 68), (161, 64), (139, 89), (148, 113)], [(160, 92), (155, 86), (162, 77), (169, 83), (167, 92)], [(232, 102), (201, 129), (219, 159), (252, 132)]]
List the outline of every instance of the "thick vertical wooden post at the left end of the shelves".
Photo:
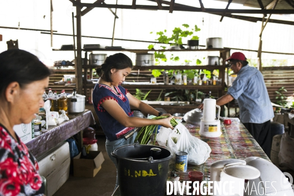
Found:
[[(80, 3), (81, 0), (76, 0)], [(85, 78), (87, 79), (87, 78)], [(75, 65), (75, 85), (77, 93), (82, 94), (82, 29), (81, 29), (81, 7), (76, 6), (76, 65)]]

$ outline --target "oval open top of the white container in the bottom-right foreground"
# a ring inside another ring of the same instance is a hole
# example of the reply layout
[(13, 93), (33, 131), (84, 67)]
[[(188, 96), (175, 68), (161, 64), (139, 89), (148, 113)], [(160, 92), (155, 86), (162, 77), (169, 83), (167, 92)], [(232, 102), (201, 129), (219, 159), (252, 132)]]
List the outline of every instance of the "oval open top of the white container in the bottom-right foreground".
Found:
[(260, 176), (259, 170), (248, 165), (227, 166), (223, 168), (223, 172), (230, 176), (247, 180), (256, 179)]

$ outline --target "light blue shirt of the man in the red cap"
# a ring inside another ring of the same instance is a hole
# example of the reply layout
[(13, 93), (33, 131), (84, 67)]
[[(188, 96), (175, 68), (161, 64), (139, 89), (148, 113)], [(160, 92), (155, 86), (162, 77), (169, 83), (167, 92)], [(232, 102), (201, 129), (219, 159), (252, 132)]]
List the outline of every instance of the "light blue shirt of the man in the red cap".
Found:
[(265, 123), (274, 117), (263, 75), (254, 67), (242, 67), (227, 94), (238, 99), (242, 123)]

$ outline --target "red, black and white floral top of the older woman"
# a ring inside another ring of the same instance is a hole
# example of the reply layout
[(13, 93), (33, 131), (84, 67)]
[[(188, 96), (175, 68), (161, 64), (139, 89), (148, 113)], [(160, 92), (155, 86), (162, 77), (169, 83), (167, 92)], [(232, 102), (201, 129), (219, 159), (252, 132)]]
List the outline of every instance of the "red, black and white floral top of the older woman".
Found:
[(43, 196), (35, 157), (0, 124), (0, 196)]

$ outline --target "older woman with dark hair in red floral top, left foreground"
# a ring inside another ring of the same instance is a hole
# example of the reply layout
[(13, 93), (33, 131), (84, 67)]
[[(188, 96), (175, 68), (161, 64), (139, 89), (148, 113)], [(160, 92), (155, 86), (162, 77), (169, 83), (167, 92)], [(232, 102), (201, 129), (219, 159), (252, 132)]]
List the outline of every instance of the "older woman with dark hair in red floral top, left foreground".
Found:
[(44, 105), (50, 70), (20, 49), (0, 53), (0, 195), (42, 196), (45, 188), (35, 157), (13, 130), (30, 123)]

